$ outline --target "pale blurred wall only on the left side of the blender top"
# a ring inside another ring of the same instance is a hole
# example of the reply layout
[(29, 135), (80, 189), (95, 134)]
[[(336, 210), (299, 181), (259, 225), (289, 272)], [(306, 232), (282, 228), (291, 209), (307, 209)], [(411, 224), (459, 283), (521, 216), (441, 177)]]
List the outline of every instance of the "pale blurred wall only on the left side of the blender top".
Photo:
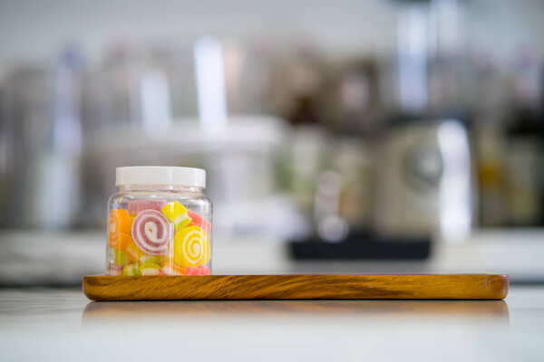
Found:
[(333, 49), (389, 48), (390, 1), (0, 1), (0, 62), (44, 60), (76, 41), (93, 57), (123, 37), (186, 42), (201, 33), (311, 39)]

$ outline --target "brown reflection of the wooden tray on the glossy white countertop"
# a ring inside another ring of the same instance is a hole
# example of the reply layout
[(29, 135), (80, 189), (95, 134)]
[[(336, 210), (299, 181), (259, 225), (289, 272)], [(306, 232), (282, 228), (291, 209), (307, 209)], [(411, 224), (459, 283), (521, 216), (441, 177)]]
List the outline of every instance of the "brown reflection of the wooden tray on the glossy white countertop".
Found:
[(92, 301), (83, 310), (83, 325), (186, 317), (232, 315), (267, 317), (371, 316), (373, 318), (492, 318), (509, 320), (504, 300), (214, 300)]

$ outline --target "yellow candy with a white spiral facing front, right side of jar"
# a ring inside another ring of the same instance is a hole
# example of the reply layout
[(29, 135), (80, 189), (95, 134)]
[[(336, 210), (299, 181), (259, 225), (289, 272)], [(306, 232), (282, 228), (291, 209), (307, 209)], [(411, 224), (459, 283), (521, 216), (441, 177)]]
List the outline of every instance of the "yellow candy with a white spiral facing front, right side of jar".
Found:
[(173, 260), (178, 266), (199, 266), (209, 261), (209, 241), (198, 226), (187, 226), (174, 235)]

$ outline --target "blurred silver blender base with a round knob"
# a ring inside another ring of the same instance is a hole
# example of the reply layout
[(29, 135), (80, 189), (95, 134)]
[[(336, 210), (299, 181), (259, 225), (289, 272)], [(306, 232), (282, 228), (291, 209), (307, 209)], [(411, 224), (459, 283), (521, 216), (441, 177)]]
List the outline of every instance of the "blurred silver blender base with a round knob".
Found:
[(391, 129), (376, 167), (375, 229), (400, 236), (438, 234), (449, 242), (471, 232), (471, 158), (460, 121), (412, 121)]

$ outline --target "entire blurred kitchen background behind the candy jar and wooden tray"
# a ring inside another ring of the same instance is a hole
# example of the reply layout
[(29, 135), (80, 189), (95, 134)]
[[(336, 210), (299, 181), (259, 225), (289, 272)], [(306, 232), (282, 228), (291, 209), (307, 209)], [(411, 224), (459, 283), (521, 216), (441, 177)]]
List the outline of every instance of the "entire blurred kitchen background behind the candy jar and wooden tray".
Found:
[(0, 1), (0, 285), (102, 273), (119, 166), (208, 171), (214, 273), (544, 282), (544, 2)]

